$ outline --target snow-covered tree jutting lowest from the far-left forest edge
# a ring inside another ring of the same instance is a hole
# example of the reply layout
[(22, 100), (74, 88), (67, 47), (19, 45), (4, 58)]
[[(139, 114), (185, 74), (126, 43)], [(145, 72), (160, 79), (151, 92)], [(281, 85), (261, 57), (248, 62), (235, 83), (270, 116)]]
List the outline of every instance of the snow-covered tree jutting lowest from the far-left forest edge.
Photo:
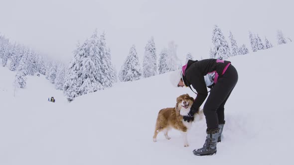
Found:
[(21, 58), (16, 70), (14, 79), (15, 87), (24, 88), (26, 86), (26, 73), (27, 73), (27, 61), (26, 58)]

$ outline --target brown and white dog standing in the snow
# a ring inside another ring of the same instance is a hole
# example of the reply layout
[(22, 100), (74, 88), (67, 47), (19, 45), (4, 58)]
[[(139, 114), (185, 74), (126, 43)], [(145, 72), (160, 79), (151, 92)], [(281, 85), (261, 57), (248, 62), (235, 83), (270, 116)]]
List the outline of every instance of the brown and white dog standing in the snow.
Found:
[[(166, 139), (170, 139), (167, 133), (171, 128), (174, 128), (181, 131), (184, 140), (184, 147), (189, 146), (187, 132), (192, 126), (192, 121), (184, 121), (183, 116), (188, 115), (193, 101), (193, 97), (190, 97), (188, 94), (183, 94), (176, 98), (176, 105), (174, 108), (164, 108), (158, 112), (153, 136), (154, 142), (156, 142), (157, 134), (161, 131), (163, 131)], [(202, 118), (203, 110), (199, 110), (194, 114), (194, 121), (199, 121)]]

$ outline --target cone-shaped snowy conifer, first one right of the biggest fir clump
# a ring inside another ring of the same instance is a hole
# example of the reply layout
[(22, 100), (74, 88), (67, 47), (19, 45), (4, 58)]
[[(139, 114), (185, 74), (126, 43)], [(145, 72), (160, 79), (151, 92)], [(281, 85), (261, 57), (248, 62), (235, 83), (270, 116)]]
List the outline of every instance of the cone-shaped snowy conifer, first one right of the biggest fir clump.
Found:
[(119, 74), (121, 82), (136, 81), (142, 76), (139, 58), (137, 55), (136, 47), (133, 45), (130, 49), (129, 56), (124, 62)]

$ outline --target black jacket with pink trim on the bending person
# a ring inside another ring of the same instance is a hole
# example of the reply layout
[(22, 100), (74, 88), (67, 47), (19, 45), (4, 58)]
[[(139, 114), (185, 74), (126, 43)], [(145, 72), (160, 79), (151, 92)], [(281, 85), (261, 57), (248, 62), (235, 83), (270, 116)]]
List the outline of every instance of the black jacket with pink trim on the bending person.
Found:
[(205, 59), (201, 61), (189, 60), (186, 69), (183, 71), (183, 81), (185, 85), (192, 85), (197, 91), (197, 96), (194, 100), (193, 107), (198, 109), (207, 97), (207, 87), (204, 81), (204, 76), (208, 73), (216, 72), (218, 78), (223, 74), (225, 67), (229, 61), (217, 59)]

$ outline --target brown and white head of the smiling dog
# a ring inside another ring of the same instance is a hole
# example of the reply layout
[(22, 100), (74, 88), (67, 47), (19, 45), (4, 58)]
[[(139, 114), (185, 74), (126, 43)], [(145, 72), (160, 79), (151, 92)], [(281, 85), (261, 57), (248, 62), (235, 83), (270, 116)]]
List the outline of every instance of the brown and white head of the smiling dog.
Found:
[(180, 115), (185, 116), (189, 113), (190, 108), (194, 102), (194, 98), (189, 94), (183, 94), (176, 98), (176, 109)]

